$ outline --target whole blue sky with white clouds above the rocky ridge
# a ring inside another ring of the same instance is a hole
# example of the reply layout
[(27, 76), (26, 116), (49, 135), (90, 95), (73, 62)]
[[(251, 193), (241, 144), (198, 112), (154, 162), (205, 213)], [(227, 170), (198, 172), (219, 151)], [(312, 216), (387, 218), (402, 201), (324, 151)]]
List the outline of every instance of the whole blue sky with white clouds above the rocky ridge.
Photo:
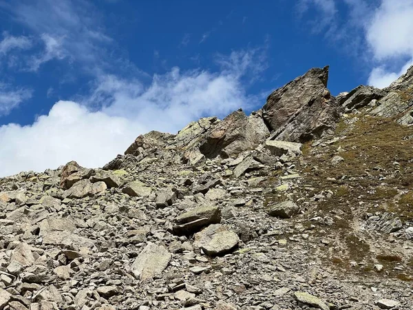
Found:
[(0, 28), (0, 176), (104, 165), (312, 67), (338, 94), (413, 63), (413, 0), (0, 0)]

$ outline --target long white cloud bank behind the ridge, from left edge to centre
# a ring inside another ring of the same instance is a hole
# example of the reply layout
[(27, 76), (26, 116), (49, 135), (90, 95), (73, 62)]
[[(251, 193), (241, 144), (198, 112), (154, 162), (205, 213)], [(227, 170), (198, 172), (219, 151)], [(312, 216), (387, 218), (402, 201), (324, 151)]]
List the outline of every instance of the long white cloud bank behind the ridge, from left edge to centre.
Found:
[(257, 99), (246, 95), (242, 77), (255, 65), (260, 62), (251, 54), (232, 54), (220, 72), (173, 68), (153, 76), (149, 85), (101, 76), (77, 103), (59, 101), (32, 125), (1, 126), (0, 175), (43, 171), (71, 160), (102, 166), (149, 130), (176, 133), (202, 116), (250, 107)]

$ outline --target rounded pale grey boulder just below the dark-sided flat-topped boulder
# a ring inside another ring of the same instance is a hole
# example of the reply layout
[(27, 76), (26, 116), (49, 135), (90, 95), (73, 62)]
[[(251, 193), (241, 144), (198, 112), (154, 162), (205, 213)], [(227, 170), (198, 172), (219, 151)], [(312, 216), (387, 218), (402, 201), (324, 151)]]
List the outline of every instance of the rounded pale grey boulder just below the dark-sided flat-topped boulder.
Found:
[(209, 256), (226, 254), (240, 242), (235, 232), (226, 229), (220, 224), (209, 225), (193, 237), (194, 246), (199, 247)]

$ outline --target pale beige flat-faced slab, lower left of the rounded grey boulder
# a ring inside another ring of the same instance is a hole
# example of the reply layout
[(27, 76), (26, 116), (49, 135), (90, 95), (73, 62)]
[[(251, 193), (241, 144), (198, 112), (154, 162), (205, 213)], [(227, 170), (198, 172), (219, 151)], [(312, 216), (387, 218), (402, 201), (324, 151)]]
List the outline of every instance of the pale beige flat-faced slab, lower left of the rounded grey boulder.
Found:
[(166, 247), (148, 242), (131, 265), (131, 271), (140, 280), (158, 277), (167, 268), (171, 257)]

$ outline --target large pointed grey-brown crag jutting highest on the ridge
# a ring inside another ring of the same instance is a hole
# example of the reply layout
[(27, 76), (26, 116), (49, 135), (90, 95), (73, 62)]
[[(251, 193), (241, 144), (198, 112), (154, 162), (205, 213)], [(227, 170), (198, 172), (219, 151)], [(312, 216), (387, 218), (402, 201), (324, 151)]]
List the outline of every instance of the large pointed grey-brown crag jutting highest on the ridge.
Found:
[(327, 81), (328, 67), (313, 68), (268, 96), (264, 120), (276, 140), (304, 142), (335, 129), (339, 105)]

